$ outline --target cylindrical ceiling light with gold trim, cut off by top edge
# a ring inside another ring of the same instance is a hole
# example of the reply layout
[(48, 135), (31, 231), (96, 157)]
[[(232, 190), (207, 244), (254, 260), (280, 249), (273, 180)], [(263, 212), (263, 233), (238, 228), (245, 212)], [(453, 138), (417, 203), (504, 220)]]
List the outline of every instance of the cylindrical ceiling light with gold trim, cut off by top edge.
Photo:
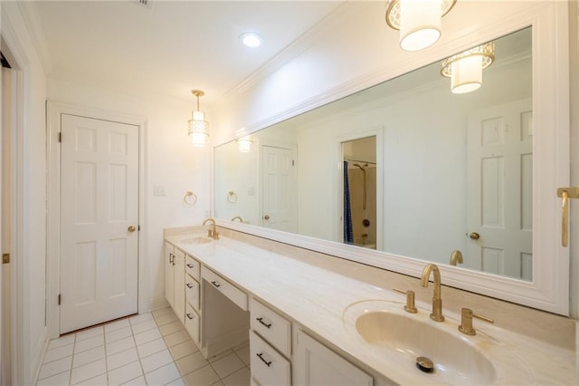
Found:
[(387, 0), (386, 23), (400, 30), (400, 47), (419, 51), (441, 37), (441, 18), (456, 0)]

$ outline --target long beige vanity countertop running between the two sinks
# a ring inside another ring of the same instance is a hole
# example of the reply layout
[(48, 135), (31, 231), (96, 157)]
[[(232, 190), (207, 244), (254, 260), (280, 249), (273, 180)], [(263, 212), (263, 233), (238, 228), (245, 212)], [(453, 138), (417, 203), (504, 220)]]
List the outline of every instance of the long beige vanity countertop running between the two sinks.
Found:
[[(166, 229), (171, 244), (194, 256), (215, 273), (223, 275), (248, 294), (286, 314), (295, 323), (335, 346), (335, 350), (364, 363), (375, 374), (399, 384), (432, 384), (430, 374), (409, 371), (401, 363), (385, 360), (384, 351), (366, 343), (348, 316), (353, 304), (369, 300), (403, 304), (404, 295), (339, 275), (271, 250), (220, 236), (204, 244), (187, 244), (191, 236), (206, 237), (203, 228)], [(432, 290), (432, 284), (429, 286)], [(442, 295), (444, 299), (444, 294)], [(419, 314), (406, 314), (428, 320), (431, 304), (417, 302)], [(402, 306), (400, 306), (402, 309)], [(403, 314), (403, 313), (402, 313)], [(437, 328), (468, 340), (495, 365), (494, 384), (576, 384), (576, 350), (544, 343), (527, 335), (475, 321), (477, 335), (467, 337), (456, 331), (460, 315), (444, 310), (446, 321)], [(424, 316), (426, 315), (426, 316)]]

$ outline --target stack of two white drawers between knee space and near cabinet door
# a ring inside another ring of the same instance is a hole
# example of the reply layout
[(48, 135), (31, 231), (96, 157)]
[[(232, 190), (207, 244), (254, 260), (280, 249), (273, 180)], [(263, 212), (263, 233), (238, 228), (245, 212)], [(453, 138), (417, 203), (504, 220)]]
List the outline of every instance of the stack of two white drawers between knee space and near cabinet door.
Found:
[(252, 384), (291, 385), (291, 323), (250, 299)]

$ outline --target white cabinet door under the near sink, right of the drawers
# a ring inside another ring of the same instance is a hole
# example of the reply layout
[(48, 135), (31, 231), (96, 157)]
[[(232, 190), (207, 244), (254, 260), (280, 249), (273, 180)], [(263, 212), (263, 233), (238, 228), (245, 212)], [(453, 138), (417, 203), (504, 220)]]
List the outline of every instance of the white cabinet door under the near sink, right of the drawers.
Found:
[(372, 386), (374, 380), (369, 374), (318, 343), (303, 331), (298, 330), (297, 335), (297, 351), (293, 361), (296, 384)]

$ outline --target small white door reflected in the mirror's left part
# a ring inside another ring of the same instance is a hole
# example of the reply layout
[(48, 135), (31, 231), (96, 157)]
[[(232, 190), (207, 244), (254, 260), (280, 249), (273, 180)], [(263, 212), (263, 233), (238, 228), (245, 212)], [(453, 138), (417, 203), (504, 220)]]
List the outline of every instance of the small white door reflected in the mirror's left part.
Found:
[(293, 150), (261, 147), (263, 227), (296, 232), (295, 165)]

